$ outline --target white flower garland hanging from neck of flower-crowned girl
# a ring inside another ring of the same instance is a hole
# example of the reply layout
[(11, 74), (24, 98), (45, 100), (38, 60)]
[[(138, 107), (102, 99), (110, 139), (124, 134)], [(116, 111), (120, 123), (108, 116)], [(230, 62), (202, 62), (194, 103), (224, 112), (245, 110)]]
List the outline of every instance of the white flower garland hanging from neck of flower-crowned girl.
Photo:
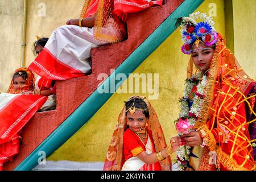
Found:
[[(180, 115), (179, 117), (185, 117), (188, 118), (189, 125), (195, 126), (195, 123), (197, 121), (197, 118), (200, 114), (201, 105), (203, 103), (203, 95), (205, 86), (207, 84), (207, 76), (203, 76), (201, 82), (199, 82), (196, 86), (197, 91), (195, 93), (195, 96), (192, 98), (192, 106), (189, 109), (188, 101), (189, 101), (189, 94), (192, 92), (192, 88), (196, 85), (196, 81), (199, 80), (198, 75), (193, 75), (185, 85), (185, 89), (183, 92), (183, 98), (181, 98), (181, 109), (180, 109)], [(195, 81), (196, 80), (196, 81)], [(195, 114), (193, 117), (191, 117), (190, 114)], [(178, 150), (176, 151), (177, 155), (177, 169), (178, 171), (184, 171), (184, 169), (187, 167), (187, 163), (189, 162), (189, 158), (187, 158), (187, 155), (191, 152), (191, 147), (189, 146), (180, 146)], [(187, 150), (187, 152), (185, 152)]]

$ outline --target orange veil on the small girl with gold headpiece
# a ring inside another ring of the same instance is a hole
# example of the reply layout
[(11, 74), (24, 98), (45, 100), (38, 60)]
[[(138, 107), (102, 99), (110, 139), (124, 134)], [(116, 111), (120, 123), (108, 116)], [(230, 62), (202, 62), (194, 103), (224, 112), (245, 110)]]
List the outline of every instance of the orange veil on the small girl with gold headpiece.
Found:
[[(133, 96), (139, 97), (139, 96)], [(133, 98), (131, 97), (131, 98)], [(154, 108), (151, 106), (150, 102), (146, 100), (146, 98), (142, 98), (144, 102), (146, 102), (148, 106), (148, 111), (150, 114), (150, 118), (148, 119), (146, 129), (152, 132), (152, 137), (154, 140), (155, 150), (160, 151), (166, 148), (166, 140), (164, 138), (162, 127), (158, 121), (158, 116), (155, 113)], [(122, 169), (124, 161), (123, 155), (123, 133), (125, 131), (125, 127), (127, 124), (126, 118), (126, 107), (124, 106), (121, 110), (121, 113), (118, 117), (117, 125), (115, 126), (115, 130), (113, 133), (113, 137), (111, 139), (108, 152), (106, 154), (104, 170), (106, 171), (120, 171)], [(171, 166), (171, 158), (168, 156), (166, 159), (159, 161), (163, 171), (170, 171), (172, 169)]]

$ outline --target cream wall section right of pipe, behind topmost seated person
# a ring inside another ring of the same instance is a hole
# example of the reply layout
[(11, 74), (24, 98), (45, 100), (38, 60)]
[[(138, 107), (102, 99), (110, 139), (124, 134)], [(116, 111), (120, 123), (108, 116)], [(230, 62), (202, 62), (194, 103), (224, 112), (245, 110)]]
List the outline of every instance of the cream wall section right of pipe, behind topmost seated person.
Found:
[[(42, 16), (44, 7), (41, 5), (46, 7), (46, 16)], [(36, 35), (49, 38), (55, 28), (69, 19), (79, 18), (83, 5), (84, 0), (28, 0), (26, 66), (35, 58), (31, 49)]]

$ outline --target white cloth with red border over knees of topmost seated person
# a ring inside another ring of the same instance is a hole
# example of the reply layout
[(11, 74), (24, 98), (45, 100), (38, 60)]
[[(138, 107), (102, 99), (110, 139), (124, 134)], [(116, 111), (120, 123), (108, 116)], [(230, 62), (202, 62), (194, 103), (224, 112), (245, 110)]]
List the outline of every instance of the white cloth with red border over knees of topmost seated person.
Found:
[(90, 50), (108, 44), (93, 36), (93, 28), (66, 25), (57, 28), (28, 68), (50, 80), (68, 80), (92, 71)]

